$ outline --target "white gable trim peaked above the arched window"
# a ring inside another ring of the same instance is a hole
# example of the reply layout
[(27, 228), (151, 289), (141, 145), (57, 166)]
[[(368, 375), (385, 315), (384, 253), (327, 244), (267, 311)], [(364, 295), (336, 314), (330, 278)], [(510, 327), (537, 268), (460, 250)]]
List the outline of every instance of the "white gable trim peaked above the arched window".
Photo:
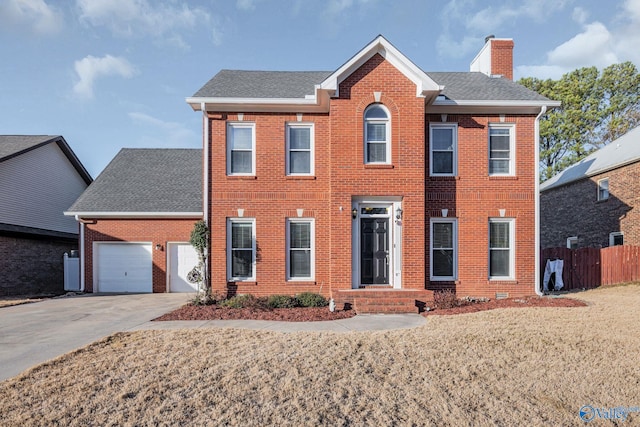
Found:
[(397, 68), (398, 71), (415, 83), (417, 97), (425, 97), (426, 92), (440, 92), (440, 85), (433, 81), (431, 77), (382, 36), (376, 37), (371, 43), (360, 50), (360, 52), (351, 57), (351, 59), (327, 77), (320, 84), (320, 89), (332, 92), (333, 96), (338, 97), (340, 95), (340, 83), (364, 65), (376, 53), (380, 54), (389, 61), (391, 65)]

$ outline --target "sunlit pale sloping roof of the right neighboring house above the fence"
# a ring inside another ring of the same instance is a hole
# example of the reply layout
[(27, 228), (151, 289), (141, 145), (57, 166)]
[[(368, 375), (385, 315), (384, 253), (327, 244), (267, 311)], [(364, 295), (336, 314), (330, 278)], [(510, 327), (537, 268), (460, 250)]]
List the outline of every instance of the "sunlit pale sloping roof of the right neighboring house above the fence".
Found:
[(540, 184), (540, 191), (547, 191), (638, 161), (640, 161), (640, 127), (630, 130), (578, 163), (549, 178)]

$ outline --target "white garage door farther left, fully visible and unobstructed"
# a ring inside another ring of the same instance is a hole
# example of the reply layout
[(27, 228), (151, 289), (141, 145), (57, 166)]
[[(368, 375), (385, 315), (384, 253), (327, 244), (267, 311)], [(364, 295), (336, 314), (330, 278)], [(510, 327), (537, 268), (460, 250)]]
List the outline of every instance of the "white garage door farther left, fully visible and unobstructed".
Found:
[(151, 243), (96, 243), (98, 292), (152, 292)]

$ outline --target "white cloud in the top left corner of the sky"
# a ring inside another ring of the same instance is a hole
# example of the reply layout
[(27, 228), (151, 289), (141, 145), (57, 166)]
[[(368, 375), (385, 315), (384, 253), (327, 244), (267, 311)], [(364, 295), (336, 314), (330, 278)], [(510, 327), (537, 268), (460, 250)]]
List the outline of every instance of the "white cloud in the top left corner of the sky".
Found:
[(3, 0), (0, 28), (28, 29), (36, 34), (54, 34), (64, 24), (62, 12), (44, 0)]

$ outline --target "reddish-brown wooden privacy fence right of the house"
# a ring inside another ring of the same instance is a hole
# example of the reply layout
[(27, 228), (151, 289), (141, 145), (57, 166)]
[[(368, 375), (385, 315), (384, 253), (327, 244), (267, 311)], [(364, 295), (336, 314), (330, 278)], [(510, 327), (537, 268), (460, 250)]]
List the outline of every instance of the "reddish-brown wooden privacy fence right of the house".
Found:
[(640, 246), (547, 248), (540, 251), (540, 289), (547, 260), (558, 259), (564, 261), (563, 291), (640, 281)]

